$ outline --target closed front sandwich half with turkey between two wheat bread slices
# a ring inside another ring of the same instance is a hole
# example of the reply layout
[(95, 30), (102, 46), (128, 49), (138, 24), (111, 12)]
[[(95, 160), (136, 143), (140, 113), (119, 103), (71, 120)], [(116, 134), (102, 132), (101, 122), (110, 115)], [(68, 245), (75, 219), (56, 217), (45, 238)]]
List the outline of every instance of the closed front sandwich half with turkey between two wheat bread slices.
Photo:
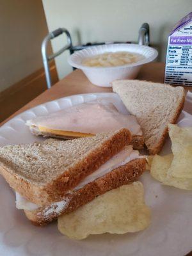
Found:
[(120, 129), (72, 141), (7, 145), (0, 148), (0, 173), (16, 192), (17, 208), (45, 225), (137, 179), (145, 159), (130, 142), (130, 132)]

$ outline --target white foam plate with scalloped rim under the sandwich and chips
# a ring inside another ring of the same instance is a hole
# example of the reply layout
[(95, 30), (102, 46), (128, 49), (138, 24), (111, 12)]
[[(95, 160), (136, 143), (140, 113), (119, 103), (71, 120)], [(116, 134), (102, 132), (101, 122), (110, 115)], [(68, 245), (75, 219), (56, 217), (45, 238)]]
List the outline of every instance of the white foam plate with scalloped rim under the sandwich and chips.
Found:
[[(189, 94), (186, 108), (190, 109)], [(38, 115), (95, 99), (108, 99), (119, 111), (126, 109), (115, 93), (74, 95), (47, 102), (29, 109), (0, 128), (0, 145), (31, 143), (43, 140), (33, 136), (25, 125), (26, 120)], [(185, 111), (179, 125), (192, 126), (192, 117)], [(163, 153), (170, 150), (166, 143)], [(140, 179), (145, 187), (145, 199), (152, 210), (152, 223), (143, 232), (125, 235), (90, 236), (83, 241), (72, 241), (58, 232), (56, 223), (40, 228), (31, 225), (24, 212), (15, 208), (15, 195), (0, 177), (0, 255), (136, 255), (183, 256), (191, 250), (191, 192), (162, 186), (145, 173)]]

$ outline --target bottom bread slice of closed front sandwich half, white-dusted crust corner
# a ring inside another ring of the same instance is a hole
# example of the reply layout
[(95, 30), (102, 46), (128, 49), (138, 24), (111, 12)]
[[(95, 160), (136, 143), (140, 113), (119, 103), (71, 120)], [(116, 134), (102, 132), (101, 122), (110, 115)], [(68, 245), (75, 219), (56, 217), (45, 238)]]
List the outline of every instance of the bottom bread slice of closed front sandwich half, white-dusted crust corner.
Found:
[(40, 207), (35, 211), (24, 212), (34, 225), (50, 223), (56, 220), (58, 216), (72, 212), (78, 207), (92, 201), (96, 196), (136, 180), (145, 171), (145, 163), (144, 158), (134, 159), (93, 182), (86, 184), (83, 188), (68, 193), (65, 195), (65, 200), (47, 205), (46, 207)]

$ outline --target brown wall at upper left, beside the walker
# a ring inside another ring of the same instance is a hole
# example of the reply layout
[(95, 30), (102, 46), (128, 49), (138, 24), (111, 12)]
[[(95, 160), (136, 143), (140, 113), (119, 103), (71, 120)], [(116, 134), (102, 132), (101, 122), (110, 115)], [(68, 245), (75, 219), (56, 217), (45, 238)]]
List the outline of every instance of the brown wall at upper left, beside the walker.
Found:
[(40, 0), (6, 0), (0, 7), (0, 92), (42, 67), (47, 35)]

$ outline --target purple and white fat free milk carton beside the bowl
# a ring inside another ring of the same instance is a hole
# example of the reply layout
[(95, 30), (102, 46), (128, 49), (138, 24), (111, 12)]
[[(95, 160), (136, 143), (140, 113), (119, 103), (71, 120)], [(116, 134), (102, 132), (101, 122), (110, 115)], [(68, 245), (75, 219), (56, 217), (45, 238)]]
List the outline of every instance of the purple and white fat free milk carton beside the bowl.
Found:
[(192, 12), (170, 33), (164, 83), (192, 86)]

